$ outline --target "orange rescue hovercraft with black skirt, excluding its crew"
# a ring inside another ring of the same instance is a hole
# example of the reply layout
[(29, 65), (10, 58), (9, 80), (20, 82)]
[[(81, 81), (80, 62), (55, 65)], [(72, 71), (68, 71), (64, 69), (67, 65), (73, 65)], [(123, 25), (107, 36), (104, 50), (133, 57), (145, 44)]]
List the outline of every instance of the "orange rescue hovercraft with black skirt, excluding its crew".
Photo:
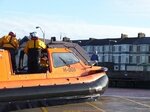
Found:
[(106, 68), (89, 65), (80, 46), (53, 42), (44, 53), (45, 70), (28, 73), (27, 67), (22, 67), (13, 73), (9, 52), (0, 49), (0, 102), (88, 98), (104, 93), (108, 85)]

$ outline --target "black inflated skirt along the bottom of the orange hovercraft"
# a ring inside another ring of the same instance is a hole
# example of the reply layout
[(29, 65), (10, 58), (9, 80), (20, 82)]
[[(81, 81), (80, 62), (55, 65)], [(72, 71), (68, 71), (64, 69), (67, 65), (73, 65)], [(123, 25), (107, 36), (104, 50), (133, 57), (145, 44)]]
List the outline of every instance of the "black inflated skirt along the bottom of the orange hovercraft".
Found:
[(90, 95), (102, 95), (108, 86), (108, 77), (82, 84), (22, 87), (0, 90), (0, 102), (13, 102), (34, 99), (87, 98)]

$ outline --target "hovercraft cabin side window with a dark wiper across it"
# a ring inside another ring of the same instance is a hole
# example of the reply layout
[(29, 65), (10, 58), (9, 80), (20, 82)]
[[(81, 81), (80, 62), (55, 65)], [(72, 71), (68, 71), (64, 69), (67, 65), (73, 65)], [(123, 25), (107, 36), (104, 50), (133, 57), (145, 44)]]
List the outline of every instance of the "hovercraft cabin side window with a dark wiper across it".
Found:
[(53, 53), (52, 57), (54, 67), (69, 66), (79, 62), (72, 53)]

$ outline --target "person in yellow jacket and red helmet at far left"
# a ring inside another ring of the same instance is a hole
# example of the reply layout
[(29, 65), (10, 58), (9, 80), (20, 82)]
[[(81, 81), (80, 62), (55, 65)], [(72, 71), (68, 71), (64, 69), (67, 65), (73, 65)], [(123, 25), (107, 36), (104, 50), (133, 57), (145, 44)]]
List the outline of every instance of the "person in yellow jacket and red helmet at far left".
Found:
[(0, 39), (1, 48), (8, 50), (11, 55), (13, 72), (16, 71), (16, 53), (19, 47), (19, 41), (16, 38), (16, 34), (14, 32), (9, 32), (8, 35), (3, 36)]

